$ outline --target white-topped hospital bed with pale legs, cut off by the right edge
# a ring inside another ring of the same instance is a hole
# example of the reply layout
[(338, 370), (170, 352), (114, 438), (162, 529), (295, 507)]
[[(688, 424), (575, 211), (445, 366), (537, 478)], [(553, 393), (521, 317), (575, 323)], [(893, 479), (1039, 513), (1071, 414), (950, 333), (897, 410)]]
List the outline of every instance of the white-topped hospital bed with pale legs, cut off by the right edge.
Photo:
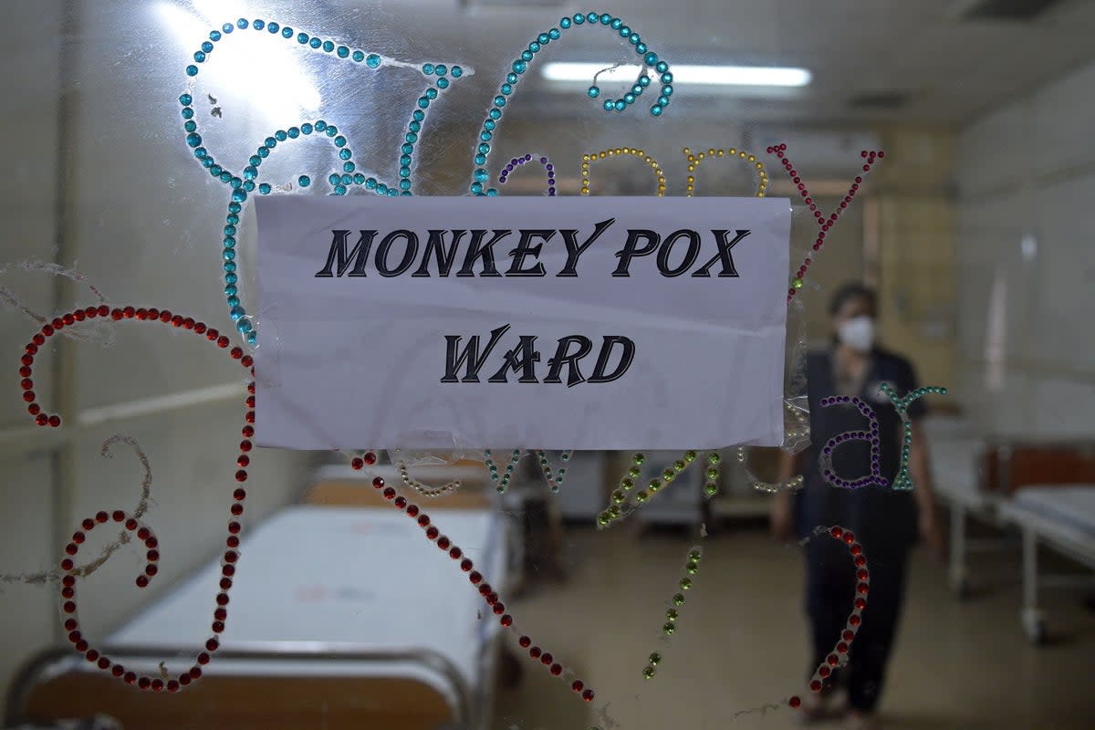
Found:
[(1091, 577), (1038, 573), (1038, 545), (1095, 569), (1095, 484), (1036, 485), (1000, 506), (1001, 518), (1023, 535), (1023, 629), (1034, 642), (1046, 636), (1039, 587), (1095, 584)]

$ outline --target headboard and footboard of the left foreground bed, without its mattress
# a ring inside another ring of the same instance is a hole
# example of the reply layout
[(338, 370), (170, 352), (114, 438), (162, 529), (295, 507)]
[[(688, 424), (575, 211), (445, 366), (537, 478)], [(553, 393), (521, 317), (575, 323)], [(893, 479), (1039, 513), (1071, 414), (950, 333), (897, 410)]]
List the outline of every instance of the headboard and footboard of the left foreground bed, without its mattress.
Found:
[[(391, 472), (391, 474), (389, 473)], [(399, 484), (393, 467), (373, 467), (369, 474), (348, 467), (321, 467), (302, 501), (311, 505), (383, 507), (388, 501), (371, 486), (373, 475)], [(394, 476), (393, 476), (394, 475)], [(482, 463), (424, 466), (415, 475), (429, 483), (460, 478), (463, 488), (437, 499), (446, 509), (491, 509), (493, 489)], [(410, 496), (410, 495), (408, 495)], [(424, 499), (416, 500), (419, 503)], [(497, 584), (497, 579), (493, 580)], [(499, 586), (505, 590), (505, 586)], [(486, 730), (494, 710), (494, 688), (504, 659), (498, 631), (484, 641), (476, 657), (477, 687), (470, 687), (457, 668), (429, 649), (370, 651), (360, 646), (323, 642), (234, 642), (223, 647), (201, 681), (177, 694), (138, 692), (92, 668), (70, 648), (50, 648), (33, 658), (8, 692), (8, 726), (49, 723), (66, 718), (106, 715), (126, 730), (155, 728), (233, 728), (234, 730), (326, 730), (378, 728), (384, 730)], [(139, 650), (104, 647), (103, 651), (127, 667), (154, 671), (161, 659), (177, 657), (188, 648), (158, 647)], [(427, 670), (457, 697), (456, 705), (426, 681), (404, 676), (353, 676), (331, 669), (400, 662)], [(301, 672), (304, 669), (307, 671)]]

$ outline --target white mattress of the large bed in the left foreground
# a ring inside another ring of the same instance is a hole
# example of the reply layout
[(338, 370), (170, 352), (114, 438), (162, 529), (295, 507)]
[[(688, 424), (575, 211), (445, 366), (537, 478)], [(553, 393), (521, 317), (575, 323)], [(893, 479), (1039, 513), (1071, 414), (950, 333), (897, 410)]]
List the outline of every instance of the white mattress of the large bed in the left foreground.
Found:
[[(492, 586), (504, 584), (506, 541), (497, 512), (423, 511)], [(500, 626), (458, 561), (423, 533), (395, 508), (295, 506), (278, 512), (245, 535), (240, 546), (222, 648), (265, 644), (309, 651), (427, 649), (448, 659), (474, 691), (481, 649)], [(210, 636), (219, 580), (220, 565), (215, 563), (107, 642), (134, 649), (177, 646), (193, 656)], [(208, 671), (400, 676), (427, 683), (453, 705), (460, 702), (451, 683), (415, 662), (378, 665), (332, 656), (324, 662), (272, 661), (264, 667), (215, 658)]]

